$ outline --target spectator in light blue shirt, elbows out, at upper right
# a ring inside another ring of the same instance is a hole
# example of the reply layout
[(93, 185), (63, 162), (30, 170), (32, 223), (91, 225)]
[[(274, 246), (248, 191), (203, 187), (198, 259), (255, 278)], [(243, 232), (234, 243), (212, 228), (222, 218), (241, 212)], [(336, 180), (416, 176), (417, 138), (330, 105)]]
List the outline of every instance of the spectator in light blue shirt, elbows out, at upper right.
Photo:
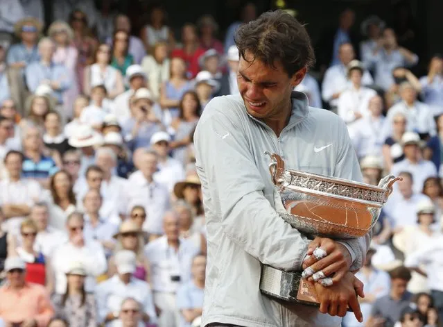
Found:
[(394, 84), (392, 71), (396, 67), (412, 67), (419, 58), (408, 49), (399, 47), (397, 36), (392, 28), (385, 28), (381, 42), (371, 56), (367, 57), (370, 69), (375, 72), (375, 84), (382, 90), (388, 91)]

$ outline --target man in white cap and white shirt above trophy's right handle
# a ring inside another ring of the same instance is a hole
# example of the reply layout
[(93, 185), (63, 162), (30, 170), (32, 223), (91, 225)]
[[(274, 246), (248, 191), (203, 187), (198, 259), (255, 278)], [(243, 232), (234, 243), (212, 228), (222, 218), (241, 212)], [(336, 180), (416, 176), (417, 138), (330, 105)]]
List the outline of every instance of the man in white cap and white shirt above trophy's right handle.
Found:
[(417, 133), (406, 132), (401, 137), (403, 154), (405, 158), (392, 166), (391, 174), (397, 176), (402, 171), (412, 174), (412, 189), (415, 193), (421, 193), (424, 181), (428, 177), (437, 177), (437, 169), (433, 162), (423, 160), (419, 149), (420, 137)]

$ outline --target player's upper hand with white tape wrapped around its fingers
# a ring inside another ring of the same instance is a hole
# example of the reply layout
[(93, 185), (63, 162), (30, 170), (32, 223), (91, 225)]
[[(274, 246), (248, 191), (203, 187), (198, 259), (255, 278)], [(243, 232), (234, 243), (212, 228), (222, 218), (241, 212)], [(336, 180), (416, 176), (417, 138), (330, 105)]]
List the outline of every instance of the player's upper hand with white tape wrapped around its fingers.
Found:
[[(326, 255), (321, 258), (318, 252)], [(309, 280), (331, 277), (333, 284), (338, 283), (347, 274), (352, 264), (351, 253), (346, 246), (329, 238), (315, 237), (309, 244), (306, 254), (309, 258), (303, 262), (302, 276)]]

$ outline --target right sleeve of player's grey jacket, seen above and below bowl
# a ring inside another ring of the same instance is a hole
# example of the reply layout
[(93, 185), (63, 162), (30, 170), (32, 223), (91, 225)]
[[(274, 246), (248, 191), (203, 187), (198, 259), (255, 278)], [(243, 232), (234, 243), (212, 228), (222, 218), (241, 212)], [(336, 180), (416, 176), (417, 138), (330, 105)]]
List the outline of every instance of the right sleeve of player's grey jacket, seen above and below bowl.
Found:
[[(351, 181), (361, 182), (363, 181), (363, 176), (361, 174), (360, 165), (356, 156), (356, 151), (354, 146), (352, 146), (351, 138), (347, 131), (345, 123), (341, 119), (337, 119), (337, 144), (340, 144), (340, 148), (337, 153), (337, 162), (334, 169), (334, 177), (346, 178)], [(365, 262), (367, 250), (370, 247), (370, 242), (372, 239), (372, 231), (367, 233), (365, 236), (359, 237), (353, 240), (341, 241), (344, 244), (353, 259), (351, 265), (351, 271), (360, 269)], [(354, 253), (352, 253), (354, 252)]]

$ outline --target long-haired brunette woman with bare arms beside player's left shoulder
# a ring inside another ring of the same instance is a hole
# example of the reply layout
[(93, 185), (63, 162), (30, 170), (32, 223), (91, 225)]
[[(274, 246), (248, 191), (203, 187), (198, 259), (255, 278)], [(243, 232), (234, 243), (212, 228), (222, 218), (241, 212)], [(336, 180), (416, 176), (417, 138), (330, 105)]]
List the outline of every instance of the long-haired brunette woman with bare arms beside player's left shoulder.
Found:
[(189, 91), (183, 94), (179, 108), (178, 117), (171, 123), (175, 135), (169, 146), (173, 149), (173, 158), (183, 165), (186, 146), (191, 143), (191, 132), (196, 128), (202, 111), (197, 93)]

